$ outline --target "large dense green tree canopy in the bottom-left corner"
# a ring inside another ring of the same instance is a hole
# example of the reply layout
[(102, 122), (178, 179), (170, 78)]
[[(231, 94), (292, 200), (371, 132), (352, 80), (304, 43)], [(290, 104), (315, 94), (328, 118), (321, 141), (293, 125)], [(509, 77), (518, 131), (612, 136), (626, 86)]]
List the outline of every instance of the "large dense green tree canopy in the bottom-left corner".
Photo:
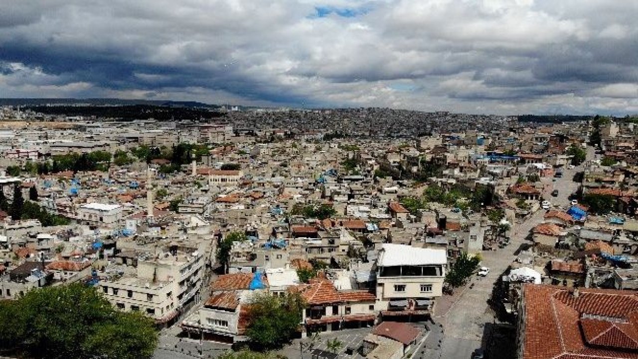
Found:
[(119, 312), (82, 284), (1, 302), (0, 323), (0, 346), (31, 358), (148, 358), (158, 339), (151, 318)]

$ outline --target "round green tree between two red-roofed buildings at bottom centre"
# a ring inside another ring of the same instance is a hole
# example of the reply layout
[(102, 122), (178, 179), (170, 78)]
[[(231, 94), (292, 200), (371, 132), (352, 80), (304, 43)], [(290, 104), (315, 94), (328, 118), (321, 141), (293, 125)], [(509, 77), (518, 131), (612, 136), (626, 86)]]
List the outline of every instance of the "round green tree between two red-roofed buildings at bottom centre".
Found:
[(306, 303), (299, 293), (257, 293), (249, 305), (246, 335), (260, 350), (278, 348), (295, 336)]

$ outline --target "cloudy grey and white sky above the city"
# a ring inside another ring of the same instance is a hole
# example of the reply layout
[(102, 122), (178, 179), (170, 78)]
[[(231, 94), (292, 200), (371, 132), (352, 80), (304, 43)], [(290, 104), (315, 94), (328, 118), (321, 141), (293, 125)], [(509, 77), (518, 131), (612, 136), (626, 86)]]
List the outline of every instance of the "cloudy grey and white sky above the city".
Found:
[(0, 98), (638, 113), (637, 0), (3, 0)]

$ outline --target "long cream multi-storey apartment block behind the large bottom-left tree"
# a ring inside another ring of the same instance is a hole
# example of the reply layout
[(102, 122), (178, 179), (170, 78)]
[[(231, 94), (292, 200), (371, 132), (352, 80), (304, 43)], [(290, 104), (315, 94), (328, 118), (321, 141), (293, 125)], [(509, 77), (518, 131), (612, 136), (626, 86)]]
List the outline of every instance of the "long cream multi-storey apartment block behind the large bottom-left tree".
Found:
[(142, 257), (133, 273), (107, 276), (100, 286), (118, 309), (145, 312), (156, 323), (167, 324), (200, 293), (203, 274), (202, 253), (173, 250)]

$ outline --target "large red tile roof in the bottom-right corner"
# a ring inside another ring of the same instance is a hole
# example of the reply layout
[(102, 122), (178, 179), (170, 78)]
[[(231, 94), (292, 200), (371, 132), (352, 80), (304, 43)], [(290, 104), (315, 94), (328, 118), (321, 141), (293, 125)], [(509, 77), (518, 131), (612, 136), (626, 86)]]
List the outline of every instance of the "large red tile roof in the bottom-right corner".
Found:
[(526, 284), (523, 359), (638, 358), (638, 293)]

